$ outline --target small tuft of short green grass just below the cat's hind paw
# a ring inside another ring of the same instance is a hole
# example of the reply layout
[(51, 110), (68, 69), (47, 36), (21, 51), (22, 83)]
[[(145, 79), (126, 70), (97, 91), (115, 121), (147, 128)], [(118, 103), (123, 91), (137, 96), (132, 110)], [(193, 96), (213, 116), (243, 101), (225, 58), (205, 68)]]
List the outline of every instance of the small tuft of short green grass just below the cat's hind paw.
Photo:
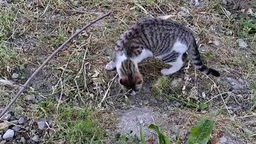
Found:
[(160, 77), (153, 86), (153, 94), (155, 97), (161, 96), (164, 93), (164, 90), (169, 87), (171, 79), (169, 77)]

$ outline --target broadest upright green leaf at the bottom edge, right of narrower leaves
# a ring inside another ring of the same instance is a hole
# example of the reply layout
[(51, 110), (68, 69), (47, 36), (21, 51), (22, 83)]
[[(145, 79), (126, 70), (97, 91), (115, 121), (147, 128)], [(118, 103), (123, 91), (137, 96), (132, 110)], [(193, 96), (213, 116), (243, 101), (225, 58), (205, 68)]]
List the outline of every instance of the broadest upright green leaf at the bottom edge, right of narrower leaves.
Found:
[(212, 133), (213, 129), (213, 121), (210, 119), (201, 119), (197, 122), (196, 126), (191, 129), (189, 137), (188, 137), (188, 144), (206, 144)]

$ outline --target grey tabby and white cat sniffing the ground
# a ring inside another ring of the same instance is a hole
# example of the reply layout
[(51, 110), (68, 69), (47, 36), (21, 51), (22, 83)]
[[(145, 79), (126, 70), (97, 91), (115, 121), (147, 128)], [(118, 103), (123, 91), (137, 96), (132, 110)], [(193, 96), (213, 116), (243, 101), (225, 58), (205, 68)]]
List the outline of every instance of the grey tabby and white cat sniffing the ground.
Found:
[(220, 76), (217, 70), (207, 68), (201, 61), (191, 30), (179, 22), (145, 18), (119, 36), (113, 57), (105, 68), (116, 69), (122, 89), (135, 94), (140, 91), (143, 82), (138, 63), (149, 57), (160, 59), (172, 66), (161, 70), (162, 75), (167, 76), (186, 65), (187, 55), (199, 71)]

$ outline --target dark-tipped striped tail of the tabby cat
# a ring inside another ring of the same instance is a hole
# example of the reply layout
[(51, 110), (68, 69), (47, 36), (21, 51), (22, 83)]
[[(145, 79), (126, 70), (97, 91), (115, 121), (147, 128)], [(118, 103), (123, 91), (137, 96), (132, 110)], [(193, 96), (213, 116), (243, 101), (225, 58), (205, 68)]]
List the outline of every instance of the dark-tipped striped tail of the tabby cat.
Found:
[(198, 47), (197, 47), (194, 37), (193, 37), (192, 43), (188, 47), (187, 52), (188, 52), (189, 58), (194, 63), (196, 69), (202, 71), (206, 75), (213, 75), (213, 76), (217, 76), (217, 77), (220, 76), (220, 73), (217, 70), (214, 70), (212, 68), (207, 68), (203, 64), (202, 60), (200, 59), (200, 54), (199, 54)]

